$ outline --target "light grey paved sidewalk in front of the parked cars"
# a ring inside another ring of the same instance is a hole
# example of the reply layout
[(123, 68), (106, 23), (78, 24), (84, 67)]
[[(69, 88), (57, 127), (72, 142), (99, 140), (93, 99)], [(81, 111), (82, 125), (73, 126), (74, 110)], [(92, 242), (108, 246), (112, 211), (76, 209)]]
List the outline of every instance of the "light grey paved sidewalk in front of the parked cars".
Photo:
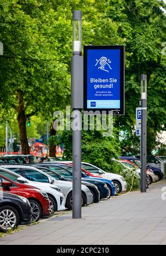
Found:
[(151, 185), (147, 193), (134, 191), (87, 206), (82, 209), (82, 219), (72, 219), (68, 213), (25, 227), (5, 235), (0, 245), (166, 244), (163, 186), (166, 181)]

